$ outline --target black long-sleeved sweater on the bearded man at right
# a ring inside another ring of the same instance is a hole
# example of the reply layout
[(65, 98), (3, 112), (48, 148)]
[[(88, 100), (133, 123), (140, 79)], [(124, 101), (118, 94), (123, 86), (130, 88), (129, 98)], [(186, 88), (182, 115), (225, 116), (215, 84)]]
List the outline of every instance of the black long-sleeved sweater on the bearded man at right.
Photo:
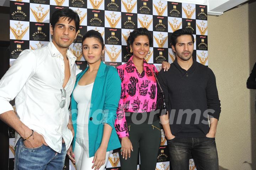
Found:
[(165, 94), (172, 135), (205, 137), (209, 132), (208, 115), (216, 119), (220, 115), (213, 71), (196, 60), (186, 71), (175, 60), (168, 71), (159, 72), (158, 80)]

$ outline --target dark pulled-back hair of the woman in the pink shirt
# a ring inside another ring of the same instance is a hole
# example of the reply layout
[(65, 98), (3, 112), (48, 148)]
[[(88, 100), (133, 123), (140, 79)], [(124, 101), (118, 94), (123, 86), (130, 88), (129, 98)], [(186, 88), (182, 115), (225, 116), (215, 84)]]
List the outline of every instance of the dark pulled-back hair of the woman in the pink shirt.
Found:
[(130, 33), (129, 37), (127, 38), (128, 53), (130, 53), (130, 45), (133, 44), (134, 39), (137, 38), (139, 35), (146, 35), (149, 39), (149, 46), (152, 45), (153, 38), (152, 38), (151, 33), (148, 31), (148, 29), (142, 28), (142, 27), (136, 28), (136, 29), (133, 30), (133, 32)]

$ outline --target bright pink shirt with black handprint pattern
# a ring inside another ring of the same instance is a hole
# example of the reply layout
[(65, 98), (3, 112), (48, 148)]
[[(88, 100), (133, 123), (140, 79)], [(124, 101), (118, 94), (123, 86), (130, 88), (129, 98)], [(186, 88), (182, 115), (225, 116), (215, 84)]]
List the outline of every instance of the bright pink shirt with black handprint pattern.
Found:
[(133, 64), (133, 56), (126, 64), (117, 67), (121, 78), (121, 97), (117, 108), (115, 129), (119, 138), (129, 137), (125, 112), (150, 112), (156, 109), (156, 79), (154, 65), (143, 62), (143, 72), (140, 74)]

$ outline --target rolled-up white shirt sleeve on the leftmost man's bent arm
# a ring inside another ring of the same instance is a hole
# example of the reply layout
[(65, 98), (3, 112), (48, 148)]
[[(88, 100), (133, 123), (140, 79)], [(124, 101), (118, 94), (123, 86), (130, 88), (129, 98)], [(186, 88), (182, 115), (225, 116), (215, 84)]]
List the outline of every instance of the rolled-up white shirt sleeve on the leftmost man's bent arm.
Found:
[(14, 61), (0, 80), (0, 114), (13, 110), (10, 100), (25, 86), (33, 76), (36, 67), (36, 57), (31, 50), (24, 50)]

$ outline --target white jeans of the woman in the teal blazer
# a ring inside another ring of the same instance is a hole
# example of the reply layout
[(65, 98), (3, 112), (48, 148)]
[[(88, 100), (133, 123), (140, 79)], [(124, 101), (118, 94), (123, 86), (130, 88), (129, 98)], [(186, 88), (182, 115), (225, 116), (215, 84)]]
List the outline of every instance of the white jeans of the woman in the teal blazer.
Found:
[[(88, 139), (81, 139), (76, 137), (75, 141), (75, 165), (76, 170), (90, 170), (93, 163), (94, 157), (89, 158), (89, 141)], [(108, 161), (110, 152), (106, 153), (105, 164), (100, 167), (99, 170), (104, 170)]]

